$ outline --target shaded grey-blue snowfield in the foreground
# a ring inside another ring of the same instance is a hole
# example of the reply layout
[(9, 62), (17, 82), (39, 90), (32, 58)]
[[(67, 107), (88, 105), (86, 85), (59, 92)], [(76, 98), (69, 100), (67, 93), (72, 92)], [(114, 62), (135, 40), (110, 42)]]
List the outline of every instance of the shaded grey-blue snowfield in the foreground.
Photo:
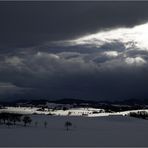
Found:
[[(31, 116), (30, 127), (0, 125), (0, 146), (148, 146), (148, 120), (117, 115), (95, 118)], [(73, 124), (70, 131), (64, 127), (67, 120)], [(45, 121), (47, 128), (43, 124)]]

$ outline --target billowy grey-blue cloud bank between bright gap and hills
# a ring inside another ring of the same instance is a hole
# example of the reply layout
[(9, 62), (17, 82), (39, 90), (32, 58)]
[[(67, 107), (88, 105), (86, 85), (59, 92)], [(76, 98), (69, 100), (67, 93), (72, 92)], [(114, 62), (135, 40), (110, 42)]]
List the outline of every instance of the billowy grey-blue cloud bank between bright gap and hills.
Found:
[[(142, 53), (126, 52), (124, 57), (123, 51), (117, 57), (107, 57), (103, 52), (36, 52), (22, 57), (6, 57), (0, 64), (1, 81), (31, 88), (22, 97), (145, 98), (147, 63), (138, 66), (125, 62), (127, 57), (135, 58), (137, 55), (142, 58)], [(144, 55), (146, 59), (148, 52)]]

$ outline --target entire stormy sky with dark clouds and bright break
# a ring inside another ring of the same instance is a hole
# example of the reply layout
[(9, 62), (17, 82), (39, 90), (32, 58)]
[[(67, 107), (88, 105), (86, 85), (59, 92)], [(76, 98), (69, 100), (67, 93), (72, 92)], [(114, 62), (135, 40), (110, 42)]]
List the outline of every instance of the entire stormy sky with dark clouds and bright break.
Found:
[(148, 99), (148, 2), (0, 2), (0, 100)]

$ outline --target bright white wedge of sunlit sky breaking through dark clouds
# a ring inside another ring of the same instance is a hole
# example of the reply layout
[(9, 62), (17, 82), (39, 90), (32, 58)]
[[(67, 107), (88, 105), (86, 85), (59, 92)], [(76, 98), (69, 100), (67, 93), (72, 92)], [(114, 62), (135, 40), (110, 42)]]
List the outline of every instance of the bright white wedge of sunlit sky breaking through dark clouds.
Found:
[(137, 47), (139, 50), (148, 51), (148, 23), (133, 28), (116, 28), (109, 31), (100, 31), (92, 35), (86, 35), (75, 40), (68, 41), (70, 45), (88, 45), (100, 47), (111, 42), (122, 42), (127, 48)]

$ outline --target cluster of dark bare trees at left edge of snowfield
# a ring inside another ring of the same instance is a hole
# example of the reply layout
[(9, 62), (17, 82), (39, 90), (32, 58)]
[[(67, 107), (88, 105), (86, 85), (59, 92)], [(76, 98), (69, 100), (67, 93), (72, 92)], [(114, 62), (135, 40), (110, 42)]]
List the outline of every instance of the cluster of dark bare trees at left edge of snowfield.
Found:
[(27, 126), (32, 122), (32, 119), (28, 115), (22, 115), (17, 113), (0, 113), (0, 124), (7, 126), (16, 125), (16, 123), (23, 123)]

